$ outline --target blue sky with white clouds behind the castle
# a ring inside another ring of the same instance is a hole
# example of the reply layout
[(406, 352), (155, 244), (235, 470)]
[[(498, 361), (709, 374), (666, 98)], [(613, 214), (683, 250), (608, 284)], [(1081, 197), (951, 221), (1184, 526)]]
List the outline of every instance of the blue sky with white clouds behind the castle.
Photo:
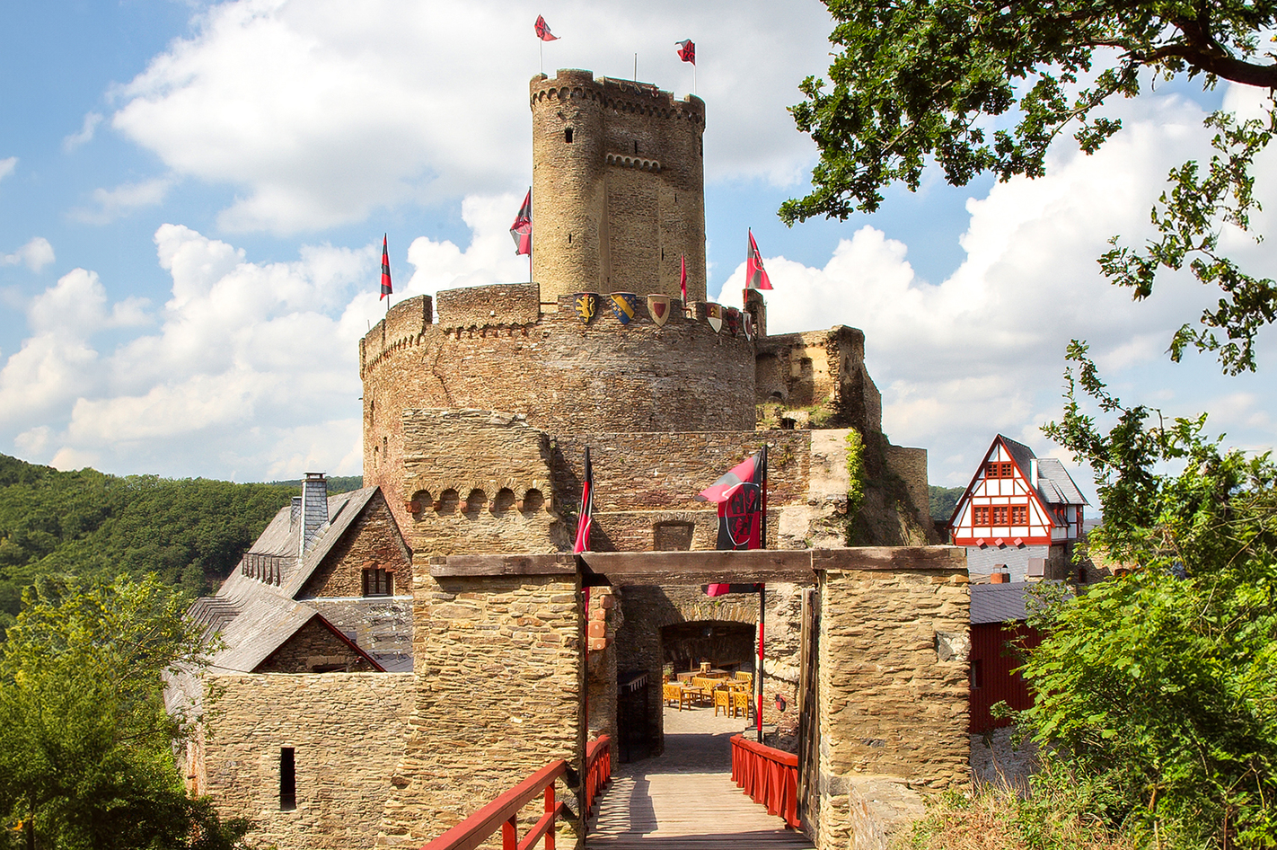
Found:
[[(530, 182), (538, 14), (562, 37), (549, 73), (630, 77), (637, 52), (638, 77), (678, 96), (692, 77), (673, 42), (697, 42), (711, 295), (734, 300), (753, 228), (771, 330), (863, 328), (884, 428), (930, 450), (932, 483), (964, 484), (997, 432), (1056, 451), (1037, 427), (1059, 414), (1070, 337), (1130, 401), (1209, 410), (1231, 444), (1273, 445), (1273, 332), (1258, 376), (1170, 364), (1171, 331), (1212, 293), (1167, 280), (1133, 304), (1094, 263), (1114, 234), (1138, 244), (1166, 170), (1207, 151), (1203, 110), (1253, 110), (1251, 93), (1161, 87), (1112, 106), (1126, 129), (1101, 153), (1054, 150), (1042, 180), (928, 175), (873, 216), (787, 229), (775, 210), (805, 192), (815, 151), (785, 107), (827, 64), (830, 23), (816, 3), (775, 9), (4, 4), (0, 451), (114, 473), (358, 474), (356, 344), (384, 309), (382, 234), (396, 297), (526, 268), (506, 229)], [(1277, 259), (1236, 248), (1254, 268)]]

